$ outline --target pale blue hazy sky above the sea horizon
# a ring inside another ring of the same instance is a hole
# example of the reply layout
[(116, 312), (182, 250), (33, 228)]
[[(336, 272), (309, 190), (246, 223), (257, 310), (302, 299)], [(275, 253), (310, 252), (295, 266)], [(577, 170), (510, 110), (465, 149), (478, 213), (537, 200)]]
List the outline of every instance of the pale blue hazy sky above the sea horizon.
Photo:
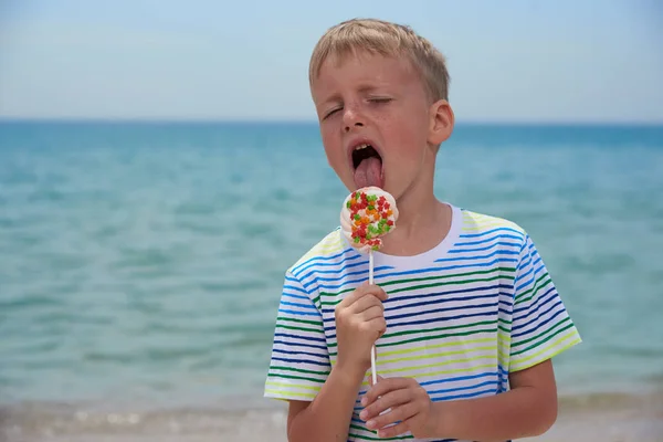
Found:
[(357, 17), (446, 56), (457, 122), (663, 123), (657, 0), (0, 0), (0, 118), (316, 120), (312, 50)]

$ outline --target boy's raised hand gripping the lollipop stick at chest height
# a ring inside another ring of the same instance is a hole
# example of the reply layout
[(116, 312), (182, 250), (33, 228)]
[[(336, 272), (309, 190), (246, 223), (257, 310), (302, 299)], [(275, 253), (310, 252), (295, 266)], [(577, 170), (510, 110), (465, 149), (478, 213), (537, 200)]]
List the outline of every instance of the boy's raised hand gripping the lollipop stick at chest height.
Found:
[(336, 306), (339, 367), (361, 375), (370, 368), (370, 347), (387, 329), (382, 305), (386, 299), (382, 288), (364, 284)]

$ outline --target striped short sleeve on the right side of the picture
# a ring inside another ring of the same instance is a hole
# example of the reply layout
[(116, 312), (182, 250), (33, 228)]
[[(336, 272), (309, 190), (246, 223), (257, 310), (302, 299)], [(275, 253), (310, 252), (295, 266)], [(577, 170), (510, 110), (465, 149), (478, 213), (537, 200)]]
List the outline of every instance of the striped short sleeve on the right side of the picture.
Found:
[(514, 290), (509, 371), (533, 367), (581, 341), (528, 235), (520, 250)]

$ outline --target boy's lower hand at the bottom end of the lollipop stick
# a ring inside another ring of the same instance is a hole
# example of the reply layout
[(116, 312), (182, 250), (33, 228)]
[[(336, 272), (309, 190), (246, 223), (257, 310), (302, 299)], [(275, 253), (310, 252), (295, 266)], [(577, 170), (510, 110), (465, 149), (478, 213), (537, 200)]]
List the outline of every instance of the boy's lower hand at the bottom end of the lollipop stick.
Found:
[[(379, 438), (393, 438), (408, 431), (418, 439), (433, 438), (433, 402), (414, 379), (378, 377), (378, 382), (361, 399), (359, 417)], [(391, 409), (391, 410), (389, 410)], [(385, 414), (380, 415), (385, 410)], [(386, 425), (400, 422), (386, 429)]]

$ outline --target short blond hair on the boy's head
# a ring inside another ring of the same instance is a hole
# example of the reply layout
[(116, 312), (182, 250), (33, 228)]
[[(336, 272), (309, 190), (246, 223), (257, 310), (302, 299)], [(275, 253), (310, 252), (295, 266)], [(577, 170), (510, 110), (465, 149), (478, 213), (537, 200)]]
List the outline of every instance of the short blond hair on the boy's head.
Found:
[(311, 56), (311, 85), (329, 55), (344, 57), (358, 51), (383, 56), (406, 55), (418, 71), (431, 99), (449, 99), (450, 78), (444, 55), (412, 28), (376, 19), (352, 19), (327, 30)]

